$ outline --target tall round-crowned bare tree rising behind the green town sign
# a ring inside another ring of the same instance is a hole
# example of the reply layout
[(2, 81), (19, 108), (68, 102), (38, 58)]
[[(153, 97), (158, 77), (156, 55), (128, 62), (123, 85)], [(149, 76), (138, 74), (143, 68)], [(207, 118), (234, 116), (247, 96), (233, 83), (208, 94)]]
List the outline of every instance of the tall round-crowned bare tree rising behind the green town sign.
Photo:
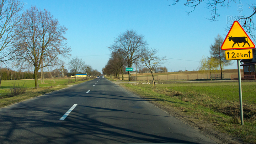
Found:
[[(135, 30), (127, 30), (119, 34), (108, 49), (123, 55), (127, 66), (130, 68), (145, 50), (146, 45), (147, 43), (142, 34), (138, 34)], [(137, 52), (137, 55), (134, 54), (135, 52)]]

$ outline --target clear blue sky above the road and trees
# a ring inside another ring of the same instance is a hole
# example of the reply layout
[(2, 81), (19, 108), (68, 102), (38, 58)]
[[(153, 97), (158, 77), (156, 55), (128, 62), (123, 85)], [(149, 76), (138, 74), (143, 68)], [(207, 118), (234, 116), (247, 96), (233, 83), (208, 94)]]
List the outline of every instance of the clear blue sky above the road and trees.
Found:
[[(68, 28), (65, 37), (72, 49), (71, 58), (78, 56), (86, 64), (101, 71), (106, 65), (108, 50), (114, 38), (126, 30), (134, 29), (143, 34), (148, 47), (159, 49), (159, 56), (167, 56), (168, 71), (196, 70), (202, 56), (210, 56), (209, 46), (218, 34), (225, 38), (226, 26), (233, 23), (232, 17), (251, 15), (247, 4), (254, 0), (230, 3), (230, 8), (218, 7), (218, 21), (209, 21), (211, 12), (206, 4), (192, 10), (181, 0), (174, 6), (171, 0), (25, 0), (25, 9), (36, 6), (47, 9), (60, 25)], [(240, 9), (241, 10), (241, 9)], [(241, 14), (239, 13), (241, 12)], [(255, 21), (255, 18), (254, 18)], [(71, 59), (70, 58), (70, 59)], [(66, 63), (70, 59), (64, 60)], [(234, 61), (234, 60), (233, 60)], [(54, 68), (53, 68), (54, 69)], [(68, 65), (66, 65), (68, 69)], [(134, 68), (135, 69), (135, 68)], [(234, 64), (224, 69), (237, 69)], [(68, 69), (69, 70), (69, 69)]]

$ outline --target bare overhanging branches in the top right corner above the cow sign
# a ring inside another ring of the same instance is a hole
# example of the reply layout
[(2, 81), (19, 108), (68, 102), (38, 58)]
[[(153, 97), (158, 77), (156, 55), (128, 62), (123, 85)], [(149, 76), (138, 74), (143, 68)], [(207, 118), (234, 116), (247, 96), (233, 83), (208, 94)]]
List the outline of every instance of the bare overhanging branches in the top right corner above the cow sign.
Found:
[[(172, 0), (174, 1), (173, 4), (171, 5), (175, 5), (178, 2), (180, 2), (180, 0)], [(220, 16), (220, 14), (218, 13), (218, 7), (226, 7), (227, 9), (230, 8), (230, 3), (231, 2), (239, 2), (240, 0), (185, 0), (184, 5), (188, 6), (188, 7), (192, 7), (192, 10), (187, 12), (187, 14), (189, 15), (191, 12), (196, 10), (196, 7), (200, 4), (206, 4), (207, 9), (210, 10), (212, 17), (208, 18), (208, 20), (211, 21), (216, 21), (217, 17)], [(169, 6), (171, 6), (169, 5)], [(241, 24), (241, 26), (244, 28), (244, 30), (250, 34), (251, 38), (254, 39), (254, 41), (256, 41), (256, 35), (255, 30), (255, 23), (253, 21), (253, 17), (256, 15), (256, 4), (248, 4), (248, 8), (252, 10), (252, 12), (250, 14), (247, 15), (240, 15), (237, 17), (239, 23)], [(229, 31), (231, 26), (228, 26), (226, 28), (226, 31)]]

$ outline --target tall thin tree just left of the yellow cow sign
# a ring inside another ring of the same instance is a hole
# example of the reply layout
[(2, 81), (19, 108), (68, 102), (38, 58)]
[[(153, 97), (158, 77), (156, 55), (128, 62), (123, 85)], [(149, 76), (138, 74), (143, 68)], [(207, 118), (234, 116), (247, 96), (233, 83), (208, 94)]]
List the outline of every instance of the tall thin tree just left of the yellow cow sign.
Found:
[(224, 39), (219, 34), (214, 38), (214, 43), (210, 45), (210, 54), (213, 58), (218, 60), (218, 64), (220, 66), (220, 79), (222, 78), (222, 69), (224, 66), (231, 65), (231, 60), (225, 59), (225, 50), (222, 50), (220, 47), (222, 46)]

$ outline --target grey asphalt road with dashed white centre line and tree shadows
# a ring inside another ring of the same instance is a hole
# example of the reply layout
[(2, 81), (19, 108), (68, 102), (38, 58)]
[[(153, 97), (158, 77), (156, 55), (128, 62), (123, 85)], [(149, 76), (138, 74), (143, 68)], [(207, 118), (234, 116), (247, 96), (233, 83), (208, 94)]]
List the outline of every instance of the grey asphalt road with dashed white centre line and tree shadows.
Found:
[(1, 108), (0, 143), (215, 142), (101, 78)]

